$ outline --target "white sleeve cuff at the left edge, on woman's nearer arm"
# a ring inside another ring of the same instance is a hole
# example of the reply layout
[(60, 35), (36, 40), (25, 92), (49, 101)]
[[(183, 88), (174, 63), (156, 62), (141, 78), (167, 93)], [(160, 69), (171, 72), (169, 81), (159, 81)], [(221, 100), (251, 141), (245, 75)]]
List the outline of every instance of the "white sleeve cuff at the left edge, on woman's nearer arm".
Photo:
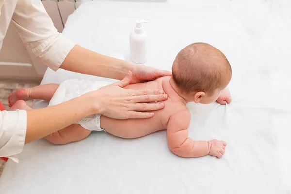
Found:
[(0, 111), (0, 157), (18, 162), (16, 154), (23, 150), (26, 127), (25, 110)]

